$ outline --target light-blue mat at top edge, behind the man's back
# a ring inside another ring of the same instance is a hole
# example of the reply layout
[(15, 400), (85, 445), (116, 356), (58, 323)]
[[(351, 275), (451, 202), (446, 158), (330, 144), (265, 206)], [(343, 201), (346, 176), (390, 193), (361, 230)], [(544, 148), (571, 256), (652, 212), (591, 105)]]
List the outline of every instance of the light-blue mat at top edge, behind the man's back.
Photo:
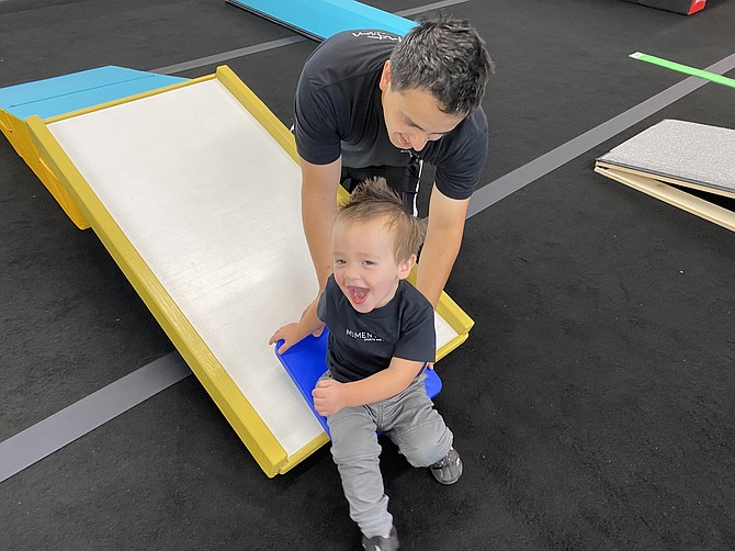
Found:
[(354, 0), (227, 1), (316, 41), (354, 29), (375, 29), (403, 36), (416, 26), (414, 21)]

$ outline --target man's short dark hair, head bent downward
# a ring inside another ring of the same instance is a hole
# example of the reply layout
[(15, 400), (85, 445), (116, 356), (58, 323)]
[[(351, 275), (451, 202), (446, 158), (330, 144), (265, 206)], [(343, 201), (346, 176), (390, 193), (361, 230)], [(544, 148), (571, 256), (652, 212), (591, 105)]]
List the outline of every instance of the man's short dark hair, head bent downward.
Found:
[(485, 41), (467, 21), (441, 18), (411, 29), (391, 55), (391, 87), (422, 89), (448, 114), (468, 114), (494, 71)]

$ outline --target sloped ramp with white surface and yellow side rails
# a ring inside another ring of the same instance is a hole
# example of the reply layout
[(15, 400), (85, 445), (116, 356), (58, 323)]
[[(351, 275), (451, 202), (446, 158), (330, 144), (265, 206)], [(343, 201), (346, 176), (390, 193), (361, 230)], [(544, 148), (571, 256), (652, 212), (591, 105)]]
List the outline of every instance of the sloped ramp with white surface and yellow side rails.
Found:
[[(269, 476), (328, 441), (273, 353), (317, 291), (291, 133), (227, 67), (56, 119), (43, 161)], [(438, 352), (472, 319), (446, 295)]]

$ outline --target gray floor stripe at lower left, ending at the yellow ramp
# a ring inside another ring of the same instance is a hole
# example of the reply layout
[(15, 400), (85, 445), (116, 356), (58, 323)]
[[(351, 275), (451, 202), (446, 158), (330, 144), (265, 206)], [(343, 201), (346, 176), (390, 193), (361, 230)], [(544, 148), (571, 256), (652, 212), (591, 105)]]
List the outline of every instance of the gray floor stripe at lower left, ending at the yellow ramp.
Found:
[(0, 482), (190, 374), (171, 352), (0, 442)]

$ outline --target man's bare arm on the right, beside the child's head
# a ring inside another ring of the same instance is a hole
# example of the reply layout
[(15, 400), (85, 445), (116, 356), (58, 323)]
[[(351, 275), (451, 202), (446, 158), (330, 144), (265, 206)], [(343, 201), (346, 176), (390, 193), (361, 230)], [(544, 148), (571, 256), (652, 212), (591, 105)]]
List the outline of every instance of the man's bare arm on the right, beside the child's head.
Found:
[(470, 199), (450, 199), (437, 185), (431, 190), (429, 225), (416, 286), (434, 308), (460, 254), (468, 205)]

